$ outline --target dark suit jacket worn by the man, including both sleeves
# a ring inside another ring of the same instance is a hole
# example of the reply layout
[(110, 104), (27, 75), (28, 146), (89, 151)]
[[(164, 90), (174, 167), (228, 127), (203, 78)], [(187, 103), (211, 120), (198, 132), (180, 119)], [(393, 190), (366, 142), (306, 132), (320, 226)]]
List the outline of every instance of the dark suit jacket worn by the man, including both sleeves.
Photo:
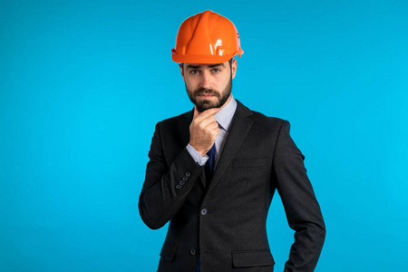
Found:
[(193, 272), (198, 257), (205, 272), (273, 271), (266, 222), (276, 189), (296, 230), (285, 271), (313, 271), (325, 223), (289, 123), (238, 102), (206, 188), (204, 168), (186, 149), (192, 113), (160, 121), (151, 141), (139, 209), (150, 228), (170, 220), (158, 271)]

